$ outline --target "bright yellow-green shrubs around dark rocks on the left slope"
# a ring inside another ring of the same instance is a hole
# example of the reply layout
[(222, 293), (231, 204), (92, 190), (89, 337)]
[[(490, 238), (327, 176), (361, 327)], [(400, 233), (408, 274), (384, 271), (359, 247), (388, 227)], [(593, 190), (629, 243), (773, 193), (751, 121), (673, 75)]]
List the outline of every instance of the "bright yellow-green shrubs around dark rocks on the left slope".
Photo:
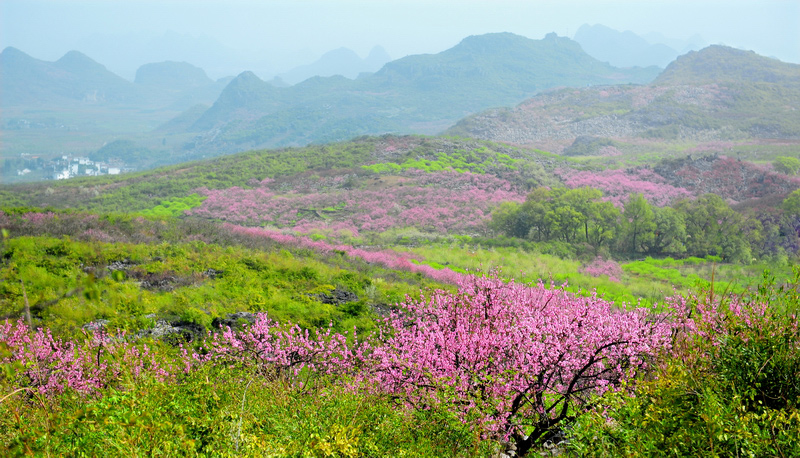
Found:
[[(313, 253), (203, 242), (147, 245), (26, 236), (6, 240), (2, 251), (0, 313), (22, 316), (27, 298), (35, 324), (58, 333), (73, 333), (96, 319), (139, 328), (152, 324), (144, 318), (149, 314), (208, 327), (213, 318), (237, 311), (266, 311), (305, 327), (334, 322), (341, 329), (367, 330), (373, 327), (367, 301), (391, 305), (419, 290), (396, 281), (373, 284), (371, 274), (359, 271), (367, 266), (357, 261), (340, 259), (335, 265)], [(123, 269), (109, 270), (115, 264)], [(218, 273), (209, 275), (209, 269)], [(337, 307), (313, 297), (337, 286), (356, 293), (359, 302)]]

